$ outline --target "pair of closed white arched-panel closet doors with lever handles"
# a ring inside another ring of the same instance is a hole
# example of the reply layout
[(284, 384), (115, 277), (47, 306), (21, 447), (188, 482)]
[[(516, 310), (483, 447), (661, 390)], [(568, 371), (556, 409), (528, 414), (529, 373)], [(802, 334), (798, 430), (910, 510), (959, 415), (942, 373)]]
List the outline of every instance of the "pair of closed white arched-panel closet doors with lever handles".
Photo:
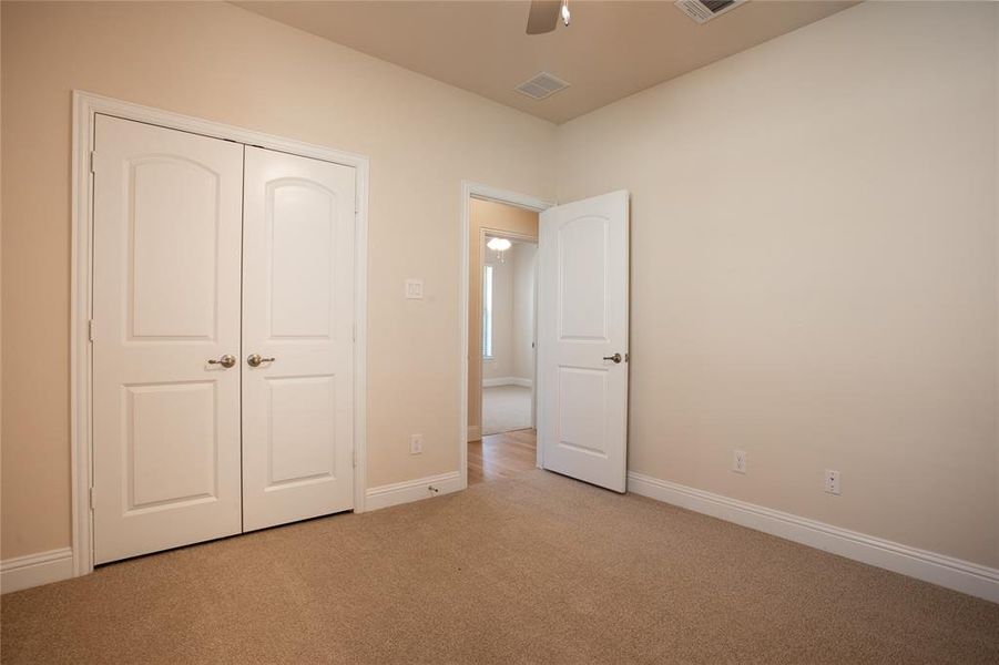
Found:
[(95, 563), (349, 510), (355, 170), (99, 115)]

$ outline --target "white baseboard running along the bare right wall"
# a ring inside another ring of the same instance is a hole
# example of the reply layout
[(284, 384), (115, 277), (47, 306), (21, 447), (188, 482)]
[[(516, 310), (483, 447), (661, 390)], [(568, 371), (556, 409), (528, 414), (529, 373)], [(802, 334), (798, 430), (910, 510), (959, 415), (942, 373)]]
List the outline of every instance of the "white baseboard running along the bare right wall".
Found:
[(999, 603), (999, 569), (910, 548), (641, 473), (628, 473), (628, 490)]

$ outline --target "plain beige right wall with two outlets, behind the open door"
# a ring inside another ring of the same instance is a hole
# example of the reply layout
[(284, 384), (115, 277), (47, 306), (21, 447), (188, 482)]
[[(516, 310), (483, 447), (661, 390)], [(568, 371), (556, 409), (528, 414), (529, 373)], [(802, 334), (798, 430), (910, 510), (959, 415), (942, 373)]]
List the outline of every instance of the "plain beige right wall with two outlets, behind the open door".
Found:
[(632, 192), (631, 470), (999, 565), (996, 12), (862, 4), (560, 127), (559, 201)]

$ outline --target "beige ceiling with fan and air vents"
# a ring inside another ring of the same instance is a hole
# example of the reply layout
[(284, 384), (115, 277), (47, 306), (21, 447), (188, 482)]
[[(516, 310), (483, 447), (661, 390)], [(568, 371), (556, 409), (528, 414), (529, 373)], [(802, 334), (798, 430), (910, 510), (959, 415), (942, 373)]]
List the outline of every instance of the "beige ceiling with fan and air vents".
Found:
[[(751, 1), (699, 25), (672, 2), (570, 0), (572, 22), (528, 35), (530, 2), (254, 1), (236, 4), (554, 123), (791, 32), (854, 1)], [(540, 71), (570, 86), (532, 100)]]

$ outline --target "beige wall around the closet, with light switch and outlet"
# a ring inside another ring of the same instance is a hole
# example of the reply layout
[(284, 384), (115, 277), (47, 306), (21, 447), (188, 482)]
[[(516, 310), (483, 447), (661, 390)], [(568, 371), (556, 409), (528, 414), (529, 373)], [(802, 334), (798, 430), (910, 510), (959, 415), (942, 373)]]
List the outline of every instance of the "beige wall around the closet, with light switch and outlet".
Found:
[(225, 3), (3, 2), (2, 68), (0, 556), (70, 543), (74, 88), (368, 155), (368, 481), (458, 468), (460, 183), (551, 198), (553, 125)]

